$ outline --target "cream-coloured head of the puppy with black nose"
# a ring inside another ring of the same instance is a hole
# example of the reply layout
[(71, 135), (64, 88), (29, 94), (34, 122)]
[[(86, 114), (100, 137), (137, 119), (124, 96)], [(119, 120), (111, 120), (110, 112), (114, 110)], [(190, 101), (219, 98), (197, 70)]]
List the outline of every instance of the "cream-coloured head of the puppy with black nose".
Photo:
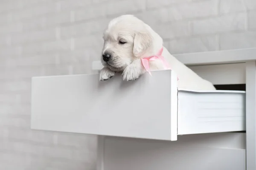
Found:
[(134, 59), (151, 53), (154, 36), (151, 28), (133, 15), (111, 20), (103, 35), (102, 64), (123, 71)]

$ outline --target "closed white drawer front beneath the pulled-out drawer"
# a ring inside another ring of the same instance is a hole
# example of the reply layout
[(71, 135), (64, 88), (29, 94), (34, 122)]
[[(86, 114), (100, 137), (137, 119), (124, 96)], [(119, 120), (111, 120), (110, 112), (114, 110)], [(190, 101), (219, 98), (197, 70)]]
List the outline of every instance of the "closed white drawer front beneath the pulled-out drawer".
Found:
[(178, 142), (106, 136), (98, 161), (101, 170), (246, 170), (245, 145), (245, 133), (183, 135)]

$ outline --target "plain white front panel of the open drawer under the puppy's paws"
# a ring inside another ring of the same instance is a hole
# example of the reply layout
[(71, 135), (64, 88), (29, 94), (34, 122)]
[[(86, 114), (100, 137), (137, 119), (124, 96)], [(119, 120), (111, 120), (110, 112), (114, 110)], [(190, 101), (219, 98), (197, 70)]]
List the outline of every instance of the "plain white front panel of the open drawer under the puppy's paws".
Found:
[(177, 76), (153, 71), (136, 81), (99, 75), (32, 79), (32, 129), (177, 140)]

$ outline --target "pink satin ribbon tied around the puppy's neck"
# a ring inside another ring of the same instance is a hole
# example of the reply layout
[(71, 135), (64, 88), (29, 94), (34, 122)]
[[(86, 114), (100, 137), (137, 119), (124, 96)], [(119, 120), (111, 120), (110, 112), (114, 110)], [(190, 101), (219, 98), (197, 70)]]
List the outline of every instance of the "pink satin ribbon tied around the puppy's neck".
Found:
[[(145, 70), (151, 75), (150, 72), (150, 67), (149, 67), (149, 62), (150, 61), (155, 61), (157, 59), (160, 59), (163, 62), (163, 66), (165, 69), (171, 69), (169, 67), (168, 62), (166, 61), (166, 59), (162, 56), (163, 53), (163, 47), (158, 51), (158, 53), (156, 55), (150, 56), (150, 57), (143, 57), (141, 58), (141, 63), (143, 65), (143, 67), (145, 68)], [(151, 75), (152, 76), (152, 75)]]

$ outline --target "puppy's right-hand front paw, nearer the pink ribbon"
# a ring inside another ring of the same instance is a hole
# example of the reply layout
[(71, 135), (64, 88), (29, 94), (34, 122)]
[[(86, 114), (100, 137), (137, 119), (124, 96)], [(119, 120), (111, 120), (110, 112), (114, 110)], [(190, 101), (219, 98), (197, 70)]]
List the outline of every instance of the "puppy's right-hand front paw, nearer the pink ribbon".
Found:
[(135, 80), (140, 77), (140, 68), (137, 68), (136, 65), (128, 65), (122, 73), (123, 80)]

